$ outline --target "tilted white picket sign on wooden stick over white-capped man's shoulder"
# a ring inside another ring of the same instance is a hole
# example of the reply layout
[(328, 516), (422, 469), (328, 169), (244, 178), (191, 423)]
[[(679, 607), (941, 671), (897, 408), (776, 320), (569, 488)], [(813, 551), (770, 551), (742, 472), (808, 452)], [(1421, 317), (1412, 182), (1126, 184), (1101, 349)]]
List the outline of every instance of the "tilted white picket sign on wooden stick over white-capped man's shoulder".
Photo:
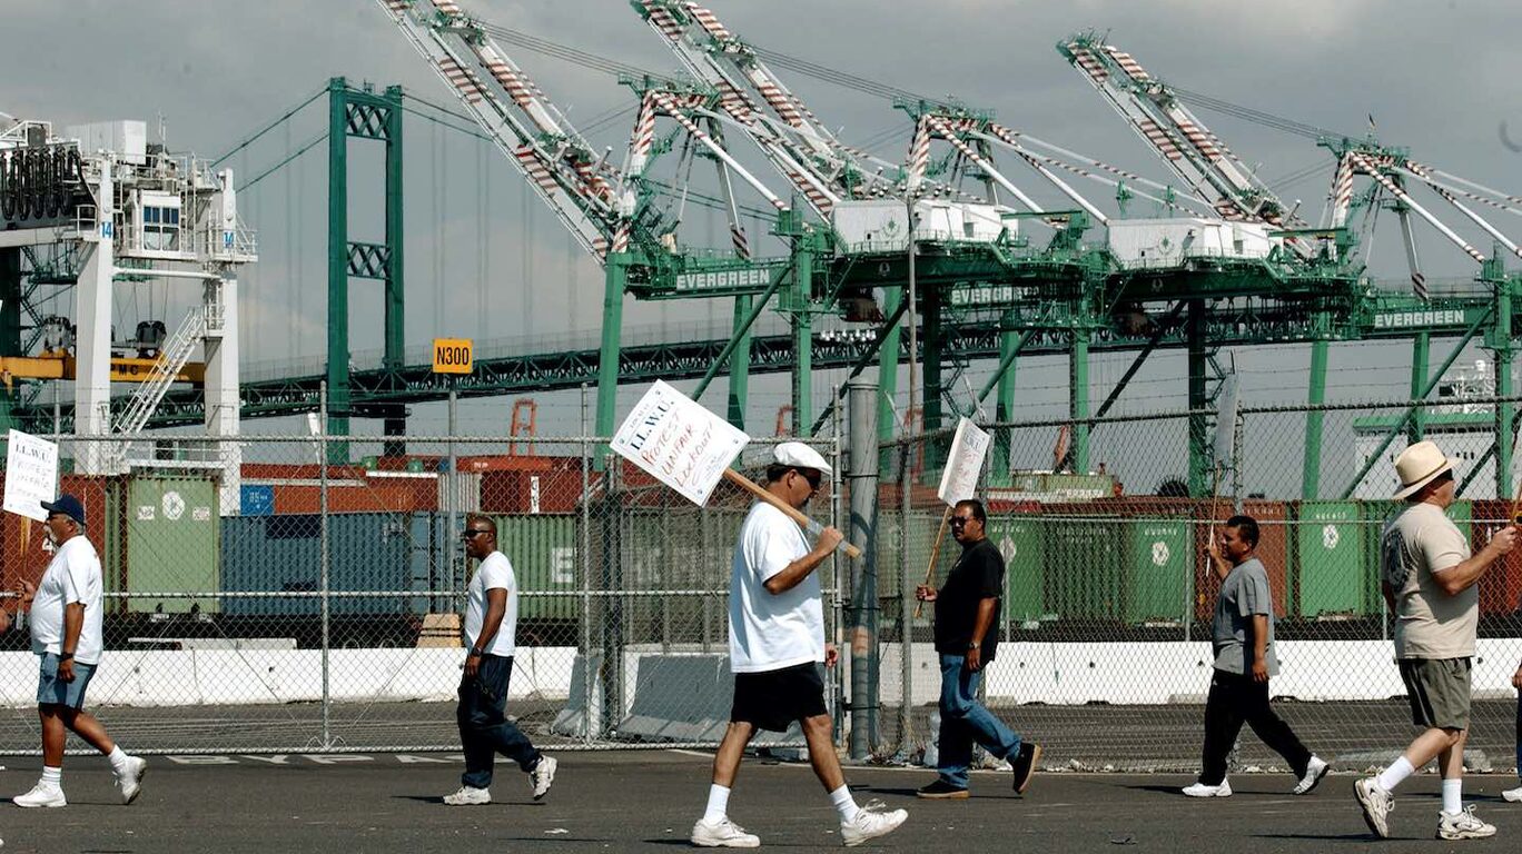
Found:
[[(656, 381), (635, 403), (609, 446), (693, 504), (708, 502), (718, 481), (728, 480), (817, 536), (823, 530), (819, 522), (729, 467), (749, 441), (744, 431), (667, 382)], [(851, 557), (861, 556), (861, 550), (851, 543), (842, 543), (842, 548)]]

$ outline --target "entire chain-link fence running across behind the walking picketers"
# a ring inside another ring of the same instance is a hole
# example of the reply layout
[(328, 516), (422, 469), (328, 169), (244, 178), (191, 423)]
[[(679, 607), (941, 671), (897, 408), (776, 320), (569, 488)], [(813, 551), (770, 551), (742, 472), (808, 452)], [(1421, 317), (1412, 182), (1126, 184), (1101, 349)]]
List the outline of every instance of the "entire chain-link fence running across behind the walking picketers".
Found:
[[(1409, 717), (1373, 545), (1393, 458), (1420, 428), (1460, 460), (1450, 516), (1478, 548), (1516, 495), (1495, 476), (1496, 405), (1242, 408), (1219, 466), (1215, 413), (991, 425), (980, 495), (1008, 574), (989, 706), (1052, 764), (1195, 769), (1218, 588), (1201, 553), (1212, 519), (1240, 510), (1262, 525), (1282, 714), (1323, 755), (1399, 749)], [(868, 559), (822, 568), (826, 633), (848, 653), (826, 680), (840, 741), (878, 757), (913, 758), (933, 735), (931, 609), (915, 617), (904, 592), (933, 553), (944, 578), (959, 551), (938, 537), (950, 440), (878, 448)], [(741, 460), (755, 476), (770, 441)], [(455, 749), (467, 513), (496, 522), (514, 566), (508, 711), (536, 743), (708, 746), (723, 732), (731, 557), (750, 504), (728, 483), (697, 507), (597, 438), (242, 437), (228, 451), (155, 437), (135, 445), (151, 458), (111, 475), (78, 472), (78, 445), (62, 440), (61, 489), (85, 504), (108, 591), (88, 705), (134, 750)], [(836, 440), (816, 446), (837, 464), (810, 513), (846, 528), (842, 472), (855, 467)], [(5, 515), (6, 588), (41, 574), (43, 540)], [(1522, 556), (1481, 580), (1470, 749), (1496, 767), (1511, 766), (1519, 595)], [(0, 644), (0, 750), (32, 752), (35, 658), (24, 630)], [(1278, 760), (1243, 738), (1239, 761)]]

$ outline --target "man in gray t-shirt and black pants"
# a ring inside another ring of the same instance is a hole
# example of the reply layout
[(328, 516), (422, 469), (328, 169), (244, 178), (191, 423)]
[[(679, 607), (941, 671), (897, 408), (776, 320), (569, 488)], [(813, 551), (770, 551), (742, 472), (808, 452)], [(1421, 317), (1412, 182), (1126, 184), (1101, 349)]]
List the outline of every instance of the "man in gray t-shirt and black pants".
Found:
[(1221, 578), (1212, 626), (1216, 665), (1205, 700), (1199, 779), (1184, 787), (1184, 795), (1190, 798), (1231, 796), (1227, 754), (1243, 723), (1289, 763), (1300, 778), (1292, 790), (1295, 795), (1309, 793), (1327, 773), (1327, 763), (1307, 750), (1268, 705), (1268, 679), (1278, 673), (1278, 658), (1274, 655), (1274, 597), (1268, 571), (1253, 554), (1257, 536), (1256, 519), (1231, 516), (1221, 527), (1219, 542), (1207, 546), (1210, 563)]

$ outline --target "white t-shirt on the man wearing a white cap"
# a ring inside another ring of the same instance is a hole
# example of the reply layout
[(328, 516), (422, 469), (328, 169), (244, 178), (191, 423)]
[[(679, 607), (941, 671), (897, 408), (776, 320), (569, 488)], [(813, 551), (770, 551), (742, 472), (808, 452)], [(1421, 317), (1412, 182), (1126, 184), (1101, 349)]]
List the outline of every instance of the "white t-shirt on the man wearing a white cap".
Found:
[(819, 572), (772, 594), (766, 580), (808, 554), (802, 528), (761, 501), (740, 527), (729, 580), (729, 670), (764, 673), (825, 661)]

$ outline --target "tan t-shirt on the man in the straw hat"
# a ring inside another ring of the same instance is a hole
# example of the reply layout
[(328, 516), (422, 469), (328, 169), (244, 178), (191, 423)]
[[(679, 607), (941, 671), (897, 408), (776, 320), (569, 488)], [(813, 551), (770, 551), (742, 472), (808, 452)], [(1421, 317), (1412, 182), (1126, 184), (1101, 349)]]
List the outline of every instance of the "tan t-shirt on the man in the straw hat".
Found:
[(1396, 594), (1396, 658), (1470, 658), (1479, 585), (1447, 595), (1434, 572), (1469, 560), (1469, 540), (1435, 504), (1411, 504), (1379, 540), (1379, 571)]

